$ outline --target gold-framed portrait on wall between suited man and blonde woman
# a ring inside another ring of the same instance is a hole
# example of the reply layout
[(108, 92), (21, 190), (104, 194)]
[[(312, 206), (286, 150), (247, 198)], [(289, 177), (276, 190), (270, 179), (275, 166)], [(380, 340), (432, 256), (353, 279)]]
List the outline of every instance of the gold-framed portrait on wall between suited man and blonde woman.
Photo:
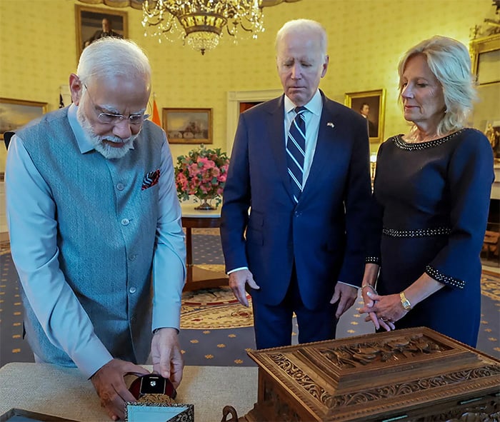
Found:
[(370, 142), (384, 141), (386, 90), (347, 92), (345, 104), (366, 119)]

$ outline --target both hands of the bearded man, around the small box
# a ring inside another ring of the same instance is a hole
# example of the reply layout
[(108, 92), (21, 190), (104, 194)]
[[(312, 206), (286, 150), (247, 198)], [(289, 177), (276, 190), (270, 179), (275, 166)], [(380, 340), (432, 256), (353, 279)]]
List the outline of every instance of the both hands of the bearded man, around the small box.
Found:
[[(169, 378), (174, 388), (182, 379), (184, 361), (175, 328), (161, 328), (151, 341), (153, 372)], [(91, 376), (91, 382), (101, 399), (101, 406), (106, 409), (113, 421), (125, 418), (125, 403), (136, 399), (126, 386), (124, 376), (136, 376), (149, 373), (145, 368), (134, 363), (113, 359)]]

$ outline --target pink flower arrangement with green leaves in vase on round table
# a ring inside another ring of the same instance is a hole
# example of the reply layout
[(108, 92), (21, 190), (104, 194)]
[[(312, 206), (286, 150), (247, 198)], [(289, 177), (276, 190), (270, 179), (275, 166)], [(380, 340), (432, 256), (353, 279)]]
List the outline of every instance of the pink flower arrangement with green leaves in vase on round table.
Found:
[(177, 196), (187, 201), (193, 195), (201, 205), (196, 209), (214, 209), (221, 204), (221, 195), (226, 184), (229, 158), (220, 148), (206, 149), (201, 144), (199, 149), (189, 151), (186, 156), (177, 157), (175, 181)]

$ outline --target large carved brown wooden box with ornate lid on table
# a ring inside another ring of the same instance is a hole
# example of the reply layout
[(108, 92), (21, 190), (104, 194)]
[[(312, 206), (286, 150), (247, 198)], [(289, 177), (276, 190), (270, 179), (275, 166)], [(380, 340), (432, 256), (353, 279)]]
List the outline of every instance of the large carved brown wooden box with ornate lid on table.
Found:
[(429, 328), (248, 354), (258, 402), (240, 421), (500, 421), (500, 361)]

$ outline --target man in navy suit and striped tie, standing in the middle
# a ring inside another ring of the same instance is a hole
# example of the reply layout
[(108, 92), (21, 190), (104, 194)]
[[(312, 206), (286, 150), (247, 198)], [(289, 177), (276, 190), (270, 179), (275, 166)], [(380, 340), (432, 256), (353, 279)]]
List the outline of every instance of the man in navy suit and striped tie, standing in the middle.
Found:
[(334, 338), (364, 268), (370, 198), (366, 121), (319, 91), (326, 32), (289, 21), (276, 36), (284, 96), (239, 119), (221, 239), (229, 286), (254, 310), (257, 348)]

